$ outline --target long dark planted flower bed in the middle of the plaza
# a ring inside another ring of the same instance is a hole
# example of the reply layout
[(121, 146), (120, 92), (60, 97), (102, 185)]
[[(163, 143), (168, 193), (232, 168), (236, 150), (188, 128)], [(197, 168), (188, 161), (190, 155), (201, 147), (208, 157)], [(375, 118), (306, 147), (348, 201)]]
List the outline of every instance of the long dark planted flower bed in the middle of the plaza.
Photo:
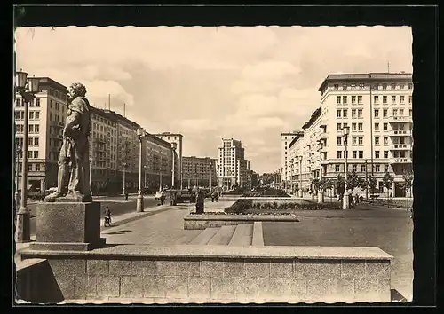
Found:
[(340, 210), (337, 203), (315, 203), (306, 200), (297, 201), (261, 201), (261, 200), (237, 200), (232, 206), (225, 208), (228, 214), (258, 214), (270, 212), (273, 215), (276, 212), (280, 214), (289, 210)]

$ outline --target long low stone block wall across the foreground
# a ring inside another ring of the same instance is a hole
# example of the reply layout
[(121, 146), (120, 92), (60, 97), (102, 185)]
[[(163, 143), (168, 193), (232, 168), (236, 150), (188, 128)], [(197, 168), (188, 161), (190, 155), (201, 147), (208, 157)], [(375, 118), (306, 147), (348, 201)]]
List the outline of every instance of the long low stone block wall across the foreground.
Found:
[(371, 259), (283, 257), (289, 251), (187, 246), (181, 255), (46, 257), (66, 300), (390, 302), (390, 258), (384, 252)]

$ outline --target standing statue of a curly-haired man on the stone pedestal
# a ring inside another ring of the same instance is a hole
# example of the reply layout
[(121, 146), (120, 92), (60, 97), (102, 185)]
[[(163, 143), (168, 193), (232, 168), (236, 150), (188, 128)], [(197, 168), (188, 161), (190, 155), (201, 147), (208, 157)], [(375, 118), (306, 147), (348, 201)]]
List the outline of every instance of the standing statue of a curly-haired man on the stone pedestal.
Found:
[(58, 161), (58, 186), (56, 192), (46, 197), (48, 201), (59, 197), (91, 201), (88, 140), (91, 111), (85, 95), (86, 89), (82, 83), (75, 82), (69, 87), (67, 119)]

